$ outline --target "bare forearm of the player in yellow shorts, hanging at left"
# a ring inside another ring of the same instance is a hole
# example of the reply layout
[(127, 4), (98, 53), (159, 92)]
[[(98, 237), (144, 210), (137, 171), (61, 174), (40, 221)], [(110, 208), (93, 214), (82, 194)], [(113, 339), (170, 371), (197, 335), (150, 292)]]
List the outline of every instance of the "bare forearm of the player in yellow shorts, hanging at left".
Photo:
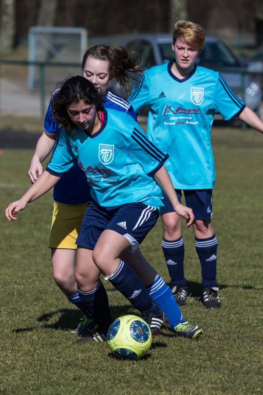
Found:
[[(43, 172), (43, 167), (41, 162), (47, 158), (48, 154), (54, 147), (56, 141), (57, 134), (48, 134), (43, 132), (39, 140), (37, 141), (37, 145), (35, 147), (35, 152), (31, 160), (31, 165), (28, 170), (28, 176), (32, 184), (37, 180), (37, 177), (40, 176)], [(38, 173), (38, 175), (37, 175)]]

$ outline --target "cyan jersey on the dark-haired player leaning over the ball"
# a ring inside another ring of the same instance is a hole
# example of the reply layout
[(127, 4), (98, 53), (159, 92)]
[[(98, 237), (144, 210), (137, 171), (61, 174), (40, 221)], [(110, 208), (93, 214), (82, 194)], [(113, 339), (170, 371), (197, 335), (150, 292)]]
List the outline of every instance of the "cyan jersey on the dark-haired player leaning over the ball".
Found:
[(92, 198), (103, 207), (142, 202), (163, 206), (162, 191), (153, 179), (167, 155), (151, 143), (129, 115), (104, 109), (103, 125), (93, 135), (75, 128), (61, 130), (47, 171), (61, 176), (78, 161), (91, 186)]

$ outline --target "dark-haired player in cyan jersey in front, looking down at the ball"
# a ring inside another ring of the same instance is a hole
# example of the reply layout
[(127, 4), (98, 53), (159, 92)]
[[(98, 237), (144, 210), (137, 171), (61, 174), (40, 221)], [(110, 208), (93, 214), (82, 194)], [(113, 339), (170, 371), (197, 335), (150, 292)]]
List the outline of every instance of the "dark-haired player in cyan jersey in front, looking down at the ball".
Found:
[[(105, 339), (110, 325), (108, 299), (100, 273), (114, 285), (147, 321), (158, 306), (175, 333), (195, 338), (200, 326), (185, 322), (170, 288), (148, 264), (144, 265), (146, 289), (120, 257), (132, 254), (155, 225), (164, 189), (178, 215), (194, 218), (181, 205), (164, 167), (167, 155), (145, 136), (129, 115), (101, 107), (93, 84), (77, 76), (67, 80), (54, 96), (54, 116), (62, 125), (46, 171), (24, 196), (6, 209), (8, 220), (52, 188), (77, 161), (91, 186), (91, 201), (76, 240), (76, 282), (80, 299), (99, 325), (96, 340)], [(95, 264), (94, 264), (95, 262)], [(155, 305), (153, 304), (154, 301)], [(96, 330), (95, 330), (96, 331)], [(94, 332), (78, 340), (94, 340)]]

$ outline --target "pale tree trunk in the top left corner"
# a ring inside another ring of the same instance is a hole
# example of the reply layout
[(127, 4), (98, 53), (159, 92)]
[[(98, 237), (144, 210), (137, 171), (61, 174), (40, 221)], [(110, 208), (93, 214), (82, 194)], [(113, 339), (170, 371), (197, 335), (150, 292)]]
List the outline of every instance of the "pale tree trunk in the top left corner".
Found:
[(0, 1), (0, 53), (13, 48), (15, 36), (15, 0)]

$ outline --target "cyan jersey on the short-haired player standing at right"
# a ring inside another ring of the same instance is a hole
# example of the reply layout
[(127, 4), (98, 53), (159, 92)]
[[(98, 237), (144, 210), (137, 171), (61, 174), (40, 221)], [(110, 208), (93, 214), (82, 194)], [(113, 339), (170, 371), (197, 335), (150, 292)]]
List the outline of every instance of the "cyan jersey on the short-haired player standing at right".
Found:
[(165, 167), (174, 188), (211, 189), (215, 164), (210, 132), (215, 111), (230, 121), (245, 105), (218, 72), (195, 66), (187, 77), (178, 79), (172, 64), (146, 70), (128, 101), (136, 113), (150, 107), (147, 135), (168, 152)]

